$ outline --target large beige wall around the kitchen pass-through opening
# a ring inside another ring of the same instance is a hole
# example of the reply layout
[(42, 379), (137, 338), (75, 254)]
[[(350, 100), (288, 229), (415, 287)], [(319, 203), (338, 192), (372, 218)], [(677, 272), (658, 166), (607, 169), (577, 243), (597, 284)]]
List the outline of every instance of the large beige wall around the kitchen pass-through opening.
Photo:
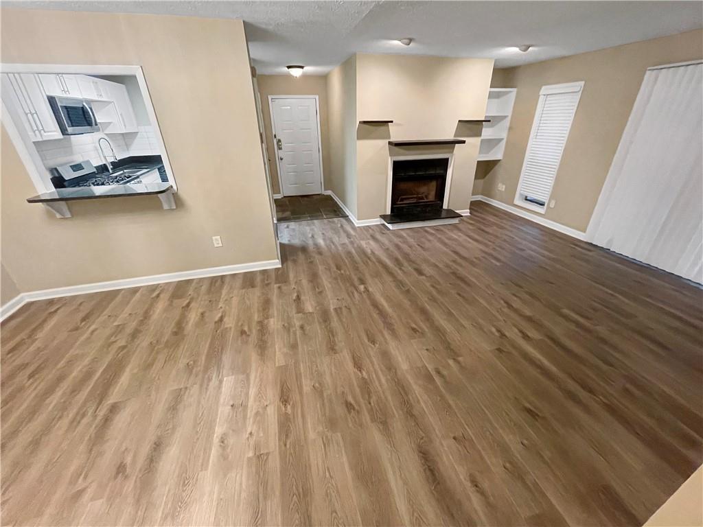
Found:
[(141, 65), (179, 184), (175, 210), (124, 197), (57, 219), (25, 202), (3, 127), (2, 263), (22, 292), (276, 259), (240, 20), (4, 8), (1, 23), (3, 63)]

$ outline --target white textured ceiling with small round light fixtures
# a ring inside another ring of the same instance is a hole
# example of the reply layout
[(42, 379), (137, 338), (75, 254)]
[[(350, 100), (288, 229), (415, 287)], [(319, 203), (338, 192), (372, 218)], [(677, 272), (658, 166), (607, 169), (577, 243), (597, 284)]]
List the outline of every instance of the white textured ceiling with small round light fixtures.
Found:
[[(324, 74), (355, 52), (495, 58), (510, 67), (703, 26), (697, 1), (4, 1), (69, 11), (245, 20), (262, 74)], [(404, 47), (393, 41), (413, 37)], [(532, 44), (528, 53), (510, 46)]]

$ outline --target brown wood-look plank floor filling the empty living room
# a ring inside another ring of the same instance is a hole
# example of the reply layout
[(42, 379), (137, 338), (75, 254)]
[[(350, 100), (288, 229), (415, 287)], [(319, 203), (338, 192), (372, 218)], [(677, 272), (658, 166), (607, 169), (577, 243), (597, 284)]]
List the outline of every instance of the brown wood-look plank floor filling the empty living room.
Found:
[(641, 525), (702, 462), (703, 294), (486, 204), (2, 325), (4, 525)]

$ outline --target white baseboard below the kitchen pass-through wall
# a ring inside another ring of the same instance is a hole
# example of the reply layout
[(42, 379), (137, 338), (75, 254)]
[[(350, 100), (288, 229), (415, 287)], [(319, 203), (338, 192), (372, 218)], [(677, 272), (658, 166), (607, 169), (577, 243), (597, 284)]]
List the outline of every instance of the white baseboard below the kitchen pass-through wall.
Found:
[(246, 273), (247, 271), (263, 271), (264, 269), (277, 267), (280, 267), (280, 260), (254, 261), (252, 263), (237, 263), (233, 266), (208, 267), (204, 269), (193, 269), (192, 271), (139, 276), (137, 278), (125, 278), (124, 280), (93, 282), (91, 284), (56, 287), (55, 289), (42, 289), (41, 291), (20, 293), (18, 297), (15, 297), (0, 308), (0, 320), (4, 320), (27, 302), (35, 300), (72, 297), (76, 294), (97, 293), (101, 291), (111, 291), (112, 289), (127, 289), (129, 287), (178, 282), (179, 280), (192, 280), (193, 278), (207, 278), (209, 276), (232, 275), (236, 273)]

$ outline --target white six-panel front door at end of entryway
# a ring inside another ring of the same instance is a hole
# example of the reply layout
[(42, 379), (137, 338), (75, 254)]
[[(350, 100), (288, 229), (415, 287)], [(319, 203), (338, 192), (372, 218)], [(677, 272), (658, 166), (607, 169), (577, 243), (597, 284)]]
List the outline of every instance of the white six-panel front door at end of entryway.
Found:
[(284, 196), (322, 193), (314, 98), (271, 98), (274, 152)]

